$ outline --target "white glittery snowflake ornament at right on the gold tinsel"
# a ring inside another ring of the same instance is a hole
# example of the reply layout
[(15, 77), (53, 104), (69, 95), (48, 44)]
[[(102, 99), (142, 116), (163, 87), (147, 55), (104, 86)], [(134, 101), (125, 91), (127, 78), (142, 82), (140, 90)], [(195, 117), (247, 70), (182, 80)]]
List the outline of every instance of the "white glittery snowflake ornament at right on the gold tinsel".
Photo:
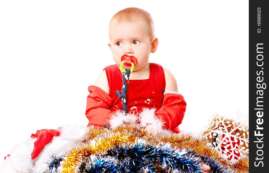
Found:
[(249, 128), (232, 119), (214, 116), (201, 136), (208, 138), (211, 145), (228, 160), (238, 160), (249, 154)]

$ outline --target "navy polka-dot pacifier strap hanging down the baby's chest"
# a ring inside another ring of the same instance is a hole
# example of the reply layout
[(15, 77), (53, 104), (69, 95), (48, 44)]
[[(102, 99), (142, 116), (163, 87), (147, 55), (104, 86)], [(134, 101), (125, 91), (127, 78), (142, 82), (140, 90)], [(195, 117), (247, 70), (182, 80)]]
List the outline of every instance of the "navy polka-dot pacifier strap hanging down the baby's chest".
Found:
[[(118, 95), (118, 97), (122, 100), (122, 105), (123, 105), (123, 113), (126, 114), (127, 113), (127, 105), (126, 105), (126, 92), (128, 89), (128, 85), (129, 85), (129, 78), (130, 78), (130, 69), (125, 69), (126, 73), (122, 72), (122, 94), (120, 94), (120, 91), (117, 90), (116, 94)], [(126, 78), (125, 75), (127, 74), (127, 84), (126, 84)]]

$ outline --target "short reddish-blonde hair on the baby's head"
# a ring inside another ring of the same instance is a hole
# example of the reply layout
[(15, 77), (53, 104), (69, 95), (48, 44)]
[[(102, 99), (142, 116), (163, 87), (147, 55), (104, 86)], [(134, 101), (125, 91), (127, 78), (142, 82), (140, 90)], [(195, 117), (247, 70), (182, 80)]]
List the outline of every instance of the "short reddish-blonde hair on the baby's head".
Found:
[[(147, 31), (151, 38), (154, 37), (154, 22), (152, 16), (145, 10), (136, 8), (136, 7), (129, 7), (117, 12), (109, 23), (109, 30), (110, 25), (112, 23), (121, 23), (121, 22), (133, 22), (144, 20), (147, 26)], [(110, 33), (109, 33), (110, 36)]]

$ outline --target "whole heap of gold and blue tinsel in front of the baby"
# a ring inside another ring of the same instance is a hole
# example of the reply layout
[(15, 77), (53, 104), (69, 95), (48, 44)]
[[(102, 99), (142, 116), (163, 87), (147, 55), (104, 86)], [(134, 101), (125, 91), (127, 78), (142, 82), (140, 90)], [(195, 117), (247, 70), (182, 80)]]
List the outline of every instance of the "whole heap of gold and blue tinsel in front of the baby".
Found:
[[(155, 155), (149, 155), (147, 151)], [(179, 162), (178, 158), (184, 158), (188, 166), (184, 166), (184, 160)], [(61, 168), (53, 166), (58, 163), (61, 163)], [(194, 163), (196, 166), (191, 167)], [(209, 165), (210, 172), (214, 173), (243, 173), (248, 172), (249, 161), (247, 157), (237, 162), (223, 159), (214, 148), (208, 146), (206, 138), (188, 134), (153, 136), (138, 127), (119, 126), (111, 130), (91, 127), (89, 136), (80, 146), (71, 149), (62, 159), (58, 161), (55, 159), (49, 165), (63, 173), (93, 170), (97, 172), (126, 172), (126, 170), (201, 172), (199, 167), (202, 163)]]

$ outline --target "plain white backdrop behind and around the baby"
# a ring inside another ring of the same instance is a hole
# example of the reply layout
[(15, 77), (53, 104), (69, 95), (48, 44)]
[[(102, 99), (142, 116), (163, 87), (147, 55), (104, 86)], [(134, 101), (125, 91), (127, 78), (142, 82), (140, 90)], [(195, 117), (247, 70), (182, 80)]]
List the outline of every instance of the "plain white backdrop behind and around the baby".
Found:
[(112, 16), (148, 11), (158, 50), (187, 109), (181, 129), (199, 131), (215, 114), (248, 116), (248, 1), (1, 1), (0, 161), (40, 129), (87, 125), (87, 87), (114, 64)]

